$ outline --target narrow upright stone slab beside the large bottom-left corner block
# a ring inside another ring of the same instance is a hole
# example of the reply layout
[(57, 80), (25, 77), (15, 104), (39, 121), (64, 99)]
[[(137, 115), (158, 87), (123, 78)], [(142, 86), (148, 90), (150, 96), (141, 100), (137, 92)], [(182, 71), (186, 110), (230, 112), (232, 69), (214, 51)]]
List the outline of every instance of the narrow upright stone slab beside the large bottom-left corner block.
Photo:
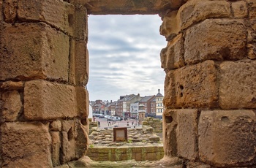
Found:
[(59, 131), (50, 131), (50, 136), (52, 138), (52, 161), (53, 161), (53, 167), (56, 167), (60, 164), (59, 161), (59, 153), (61, 149), (61, 138)]

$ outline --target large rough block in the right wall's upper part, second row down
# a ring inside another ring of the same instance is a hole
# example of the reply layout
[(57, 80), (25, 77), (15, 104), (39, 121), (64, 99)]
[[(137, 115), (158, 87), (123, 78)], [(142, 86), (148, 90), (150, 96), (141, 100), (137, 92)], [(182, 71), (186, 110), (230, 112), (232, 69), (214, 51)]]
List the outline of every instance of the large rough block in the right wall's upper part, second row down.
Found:
[(186, 64), (245, 57), (246, 28), (242, 20), (204, 20), (187, 31), (184, 53)]

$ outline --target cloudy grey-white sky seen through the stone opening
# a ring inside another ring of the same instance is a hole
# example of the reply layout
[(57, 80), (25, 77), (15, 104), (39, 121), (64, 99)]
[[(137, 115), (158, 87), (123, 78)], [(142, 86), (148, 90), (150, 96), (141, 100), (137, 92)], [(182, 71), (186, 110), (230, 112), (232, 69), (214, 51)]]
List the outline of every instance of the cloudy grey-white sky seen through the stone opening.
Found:
[(158, 15), (89, 15), (90, 100), (164, 94)]

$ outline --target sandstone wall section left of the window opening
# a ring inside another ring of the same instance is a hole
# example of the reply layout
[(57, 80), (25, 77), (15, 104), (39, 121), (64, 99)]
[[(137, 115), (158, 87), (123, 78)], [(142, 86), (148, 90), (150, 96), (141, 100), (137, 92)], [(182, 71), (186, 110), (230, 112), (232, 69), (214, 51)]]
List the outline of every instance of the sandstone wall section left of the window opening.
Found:
[(88, 148), (86, 8), (0, 0), (0, 167), (55, 167)]

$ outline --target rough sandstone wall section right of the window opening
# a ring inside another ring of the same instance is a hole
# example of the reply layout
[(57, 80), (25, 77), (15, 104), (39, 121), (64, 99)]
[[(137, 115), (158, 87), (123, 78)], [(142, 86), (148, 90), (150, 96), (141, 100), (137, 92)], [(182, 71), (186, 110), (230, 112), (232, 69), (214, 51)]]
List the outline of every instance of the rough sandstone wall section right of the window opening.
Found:
[(166, 156), (255, 167), (255, 16), (253, 0), (190, 0), (162, 15)]

